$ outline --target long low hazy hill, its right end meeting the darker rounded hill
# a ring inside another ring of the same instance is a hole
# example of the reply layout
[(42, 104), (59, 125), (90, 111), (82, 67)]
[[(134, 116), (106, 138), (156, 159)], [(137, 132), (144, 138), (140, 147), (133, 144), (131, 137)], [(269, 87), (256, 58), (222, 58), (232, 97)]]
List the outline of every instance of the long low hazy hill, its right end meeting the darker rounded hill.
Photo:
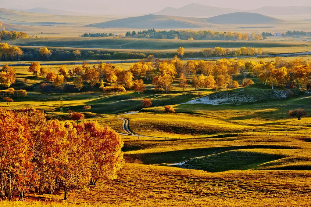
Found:
[(87, 25), (88, 27), (123, 27), (123, 28), (161, 28), (161, 29), (179, 29), (196, 28), (207, 26), (208, 22), (204, 18), (189, 18), (181, 16), (164, 15), (145, 15), (106, 21)]

